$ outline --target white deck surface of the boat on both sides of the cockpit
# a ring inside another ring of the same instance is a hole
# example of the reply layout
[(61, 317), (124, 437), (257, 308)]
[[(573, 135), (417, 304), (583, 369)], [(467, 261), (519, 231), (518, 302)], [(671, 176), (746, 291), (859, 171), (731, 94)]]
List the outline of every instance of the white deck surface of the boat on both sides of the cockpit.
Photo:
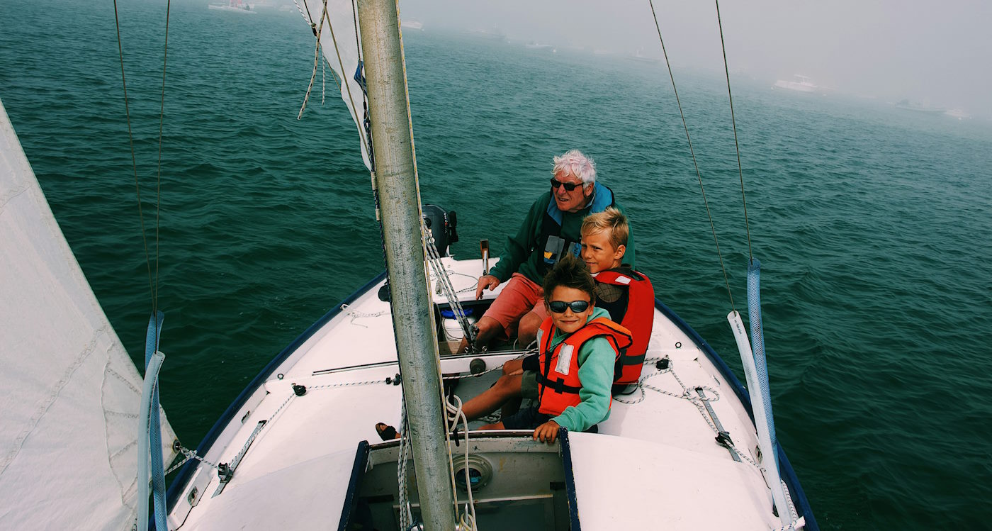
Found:
[[(445, 258), (455, 290), (474, 287), (480, 260)], [(380, 284), (381, 285), (381, 284)], [(379, 441), (374, 424), (398, 425), (401, 388), (385, 383), (398, 372), (389, 305), (372, 287), (315, 332), (256, 391), (213, 444), (206, 459), (230, 463), (259, 421), (267, 421), (223, 492), (216, 471), (200, 466), (170, 515), (182, 529), (334, 527), (359, 441)], [(461, 294), (463, 300), (474, 294)], [(487, 292), (486, 297), (494, 294)], [(439, 296), (436, 302), (445, 301)], [(375, 317), (362, 317), (375, 316)], [(724, 430), (752, 460), (755, 429), (728, 382), (674, 323), (656, 311), (648, 357), (668, 356), (689, 388), (704, 386)], [(677, 346), (679, 345), (679, 346)], [(483, 356), (489, 368), (512, 355)], [(444, 373), (467, 372), (468, 358), (444, 358)], [(645, 374), (655, 372), (654, 365)], [(283, 374), (278, 379), (276, 374)], [(461, 380), (468, 399), (497, 372)], [(362, 383), (377, 382), (377, 383)], [(680, 395), (672, 372), (646, 384)], [(296, 396), (292, 385), (308, 388)], [(344, 386), (345, 384), (352, 384)], [(626, 397), (638, 398), (640, 393)], [(735, 462), (689, 401), (646, 390), (636, 404), (614, 400), (600, 434), (570, 434), (577, 506), (583, 529), (775, 529), (772, 496), (761, 472)], [(535, 445), (539, 443), (533, 443)], [(189, 510), (189, 489), (198, 504)]]

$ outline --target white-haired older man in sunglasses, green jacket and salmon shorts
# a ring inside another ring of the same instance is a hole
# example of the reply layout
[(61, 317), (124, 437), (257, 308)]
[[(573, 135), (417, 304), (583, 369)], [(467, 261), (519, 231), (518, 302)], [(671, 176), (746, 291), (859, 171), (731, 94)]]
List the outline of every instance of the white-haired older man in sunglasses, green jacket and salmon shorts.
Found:
[[(483, 290), (510, 282), (476, 324), (478, 347), (494, 338), (509, 338), (514, 332), (521, 345), (530, 344), (548, 317), (541, 289), (545, 273), (564, 254), (578, 256), (586, 215), (607, 206), (620, 208), (613, 192), (596, 182), (595, 163), (578, 150), (555, 157), (552, 175), (551, 190), (534, 201), (520, 230), (507, 239), (499, 263), (479, 279), (476, 299), (482, 298)], [(621, 261), (635, 267), (633, 234)]]

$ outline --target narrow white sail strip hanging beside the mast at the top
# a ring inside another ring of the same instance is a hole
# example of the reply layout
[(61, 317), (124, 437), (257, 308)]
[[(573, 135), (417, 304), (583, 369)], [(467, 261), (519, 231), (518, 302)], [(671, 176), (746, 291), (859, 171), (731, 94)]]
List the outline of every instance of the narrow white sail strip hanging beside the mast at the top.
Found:
[[(369, 162), (368, 138), (365, 136), (365, 110), (362, 102), (364, 92), (361, 84), (355, 80), (355, 70), (358, 68), (359, 43), (361, 42), (358, 30), (358, 13), (350, 0), (327, 0), (321, 2), (298, 3), (304, 18), (310, 23), (314, 32), (320, 36), (320, 49), (327, 65), (337, 72), (341, 82), (341, 99), (351, 114), (351, 119), (355, 122), (358, 131), (358, 143), (361, 146), (362, 160), (365, 167), (372, 171), (372, 164)], [(324, 12), (326, 9), (326, 12)], [(336, 46), (335, 46), (336, 45)], [(321, 69), (316, 69), (316, 74), (320, 75)], [(364, 72), (361, 72), (364, 79)], [(363, 81), (364, 82), (364, 81)], [(315, 83), (314, 83), (315, 85)], [(315, 90), (315, 88), (314, 88)], [(310, 96), (312, 98), (312, 95)]]

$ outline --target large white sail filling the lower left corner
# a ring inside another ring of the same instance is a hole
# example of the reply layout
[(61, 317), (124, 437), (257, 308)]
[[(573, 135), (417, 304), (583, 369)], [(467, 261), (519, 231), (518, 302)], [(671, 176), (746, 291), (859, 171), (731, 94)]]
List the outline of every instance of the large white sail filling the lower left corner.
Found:
[(141, 387), (0, 102), (0, 528), (131, 529)]

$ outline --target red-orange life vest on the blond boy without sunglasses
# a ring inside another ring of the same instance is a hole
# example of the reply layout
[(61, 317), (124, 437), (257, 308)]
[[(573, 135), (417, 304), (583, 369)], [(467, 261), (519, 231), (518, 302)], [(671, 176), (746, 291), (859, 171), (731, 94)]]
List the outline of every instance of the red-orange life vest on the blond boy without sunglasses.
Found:
[(613, 383), (627, 385), (637, 383), (644, 367), (645, 352), (648, 351), (648, 341), (655, 324), (655, 288), (643, 273), (632, 271), (630, 274), (613, 270), (601, 271), (595, 276), (596, 282), (628, 287), (627, 312), (620, 323), (629, 330), (634, 338), (620, 358), (613, 371)]

